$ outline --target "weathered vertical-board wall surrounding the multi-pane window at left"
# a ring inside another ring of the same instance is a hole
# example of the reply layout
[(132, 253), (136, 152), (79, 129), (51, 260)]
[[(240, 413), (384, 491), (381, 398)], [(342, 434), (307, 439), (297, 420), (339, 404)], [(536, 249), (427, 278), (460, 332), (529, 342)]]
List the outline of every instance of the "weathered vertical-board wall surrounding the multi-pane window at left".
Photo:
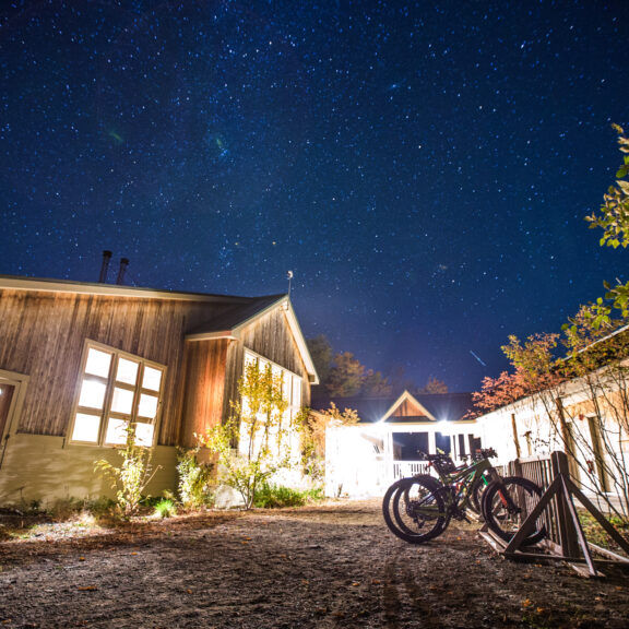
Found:
[(31, 377), (17, 431), (64, 436), (85, 340), (167, 367), (158, 442), (181, 429), (185, 334), (225, 308), (176, 299), (0, 290), (0, 369)]

